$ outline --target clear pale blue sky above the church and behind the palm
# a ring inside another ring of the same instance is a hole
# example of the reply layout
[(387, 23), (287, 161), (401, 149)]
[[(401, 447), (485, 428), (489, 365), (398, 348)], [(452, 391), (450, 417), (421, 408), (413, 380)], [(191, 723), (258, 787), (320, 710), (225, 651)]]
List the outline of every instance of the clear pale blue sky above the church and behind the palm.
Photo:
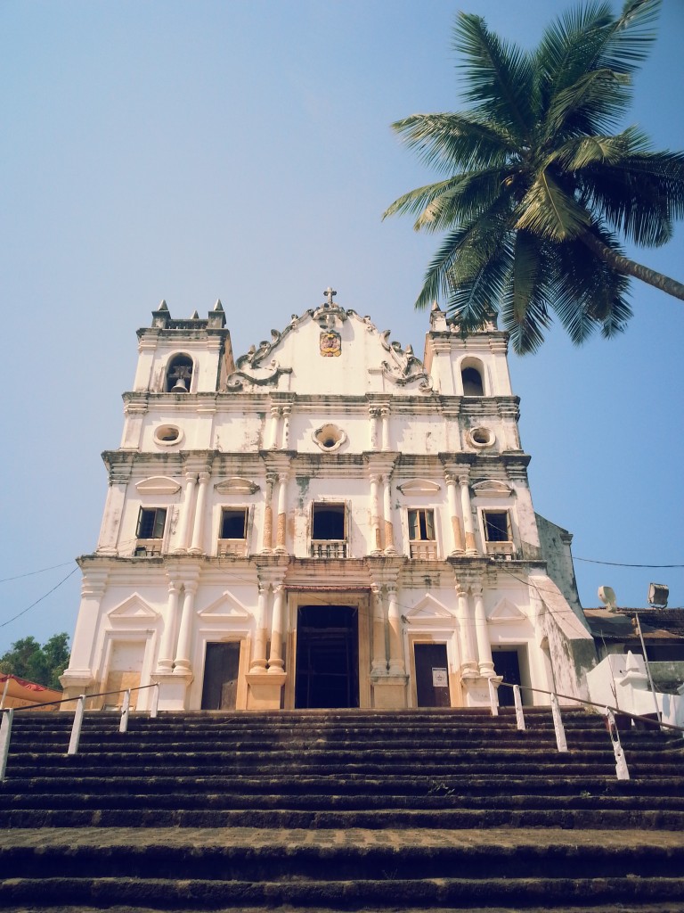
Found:
[[(4, 352), (0, 577), (73, 561), (97, 542), (135, 331), (223, 300), (245, 352), (293, 313), (337, 300), (422, 351), (412, 310), (438, 240), (380, 221), (431, 179), (389, 130), (459, 110), (459, 8), (534, 45), (559, 0), (32, 0), (0, 3), (0, 294)], [(616, 4), (617, 9), (617, 4)], [(629, 122), (684, 149), (684, 4), (665, 0)], [(643, 261), (684, 278), (684, 226)], [(511, 357), (534, 506), (575, 556), (675, 564), (682, 549), (684, 304), (633, 288), (617, 341), (560, 331)], [(73, 567), (4, 582), (0, 624)], [(576, 562), (583, 603), (607, 583), (684, 604), (684, 574)], [(71, 634), (79, 572), (11, 624)]]

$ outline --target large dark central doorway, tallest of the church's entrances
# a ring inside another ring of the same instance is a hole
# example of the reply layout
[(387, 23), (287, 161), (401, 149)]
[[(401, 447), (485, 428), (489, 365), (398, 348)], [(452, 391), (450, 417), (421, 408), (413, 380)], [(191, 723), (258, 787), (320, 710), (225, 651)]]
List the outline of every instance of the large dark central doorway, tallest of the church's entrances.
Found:
[(297, 612), (295, 707), (358, 707), (358, 611), (303, 605)]

